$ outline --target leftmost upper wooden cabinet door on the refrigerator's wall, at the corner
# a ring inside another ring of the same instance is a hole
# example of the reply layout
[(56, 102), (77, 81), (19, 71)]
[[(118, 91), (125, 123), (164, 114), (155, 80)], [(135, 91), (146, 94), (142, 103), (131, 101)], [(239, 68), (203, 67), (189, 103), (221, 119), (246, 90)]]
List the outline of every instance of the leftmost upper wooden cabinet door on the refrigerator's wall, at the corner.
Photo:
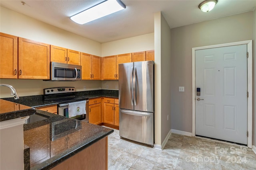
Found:
[(116, 56), (102, 58), (102, 80), (116, 80)]

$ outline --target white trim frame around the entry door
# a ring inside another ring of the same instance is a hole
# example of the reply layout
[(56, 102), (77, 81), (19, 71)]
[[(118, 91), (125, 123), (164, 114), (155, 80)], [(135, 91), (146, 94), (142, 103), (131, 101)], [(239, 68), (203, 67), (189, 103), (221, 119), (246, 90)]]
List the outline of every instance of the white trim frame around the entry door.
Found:
[(239, 41), (234, 43), (225, 43), (218, 45), (209, 45), (204, 47), (192, 48), (192, 136), (196, 136), (196, 73), (195, 73), (195, 52), (201, 49), (211, 49), (218, 47), (228, 47), (234, 45), (247, 45), (249, 53), (247, 60), (247, 89), (249, 93), (247, 101), (247, 146), (252, 148), (252, 40)]

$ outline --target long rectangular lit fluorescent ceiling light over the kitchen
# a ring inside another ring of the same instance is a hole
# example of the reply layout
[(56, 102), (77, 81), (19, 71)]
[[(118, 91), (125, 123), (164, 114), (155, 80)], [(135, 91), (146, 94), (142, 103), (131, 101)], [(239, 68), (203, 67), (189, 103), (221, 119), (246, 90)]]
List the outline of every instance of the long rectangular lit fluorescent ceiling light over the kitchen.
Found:
[(76, 23), (84, 24), (125, 8), (126, 6), (120, 0), (106, 0), (70, 17), (70, 19)]

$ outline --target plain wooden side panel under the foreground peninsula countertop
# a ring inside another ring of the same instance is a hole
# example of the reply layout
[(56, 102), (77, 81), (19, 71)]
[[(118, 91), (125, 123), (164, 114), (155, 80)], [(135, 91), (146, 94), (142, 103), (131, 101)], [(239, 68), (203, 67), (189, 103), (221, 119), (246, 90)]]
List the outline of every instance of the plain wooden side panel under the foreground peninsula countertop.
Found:
[(64, 160), (52, 170), (107, 170), (108, 137)]

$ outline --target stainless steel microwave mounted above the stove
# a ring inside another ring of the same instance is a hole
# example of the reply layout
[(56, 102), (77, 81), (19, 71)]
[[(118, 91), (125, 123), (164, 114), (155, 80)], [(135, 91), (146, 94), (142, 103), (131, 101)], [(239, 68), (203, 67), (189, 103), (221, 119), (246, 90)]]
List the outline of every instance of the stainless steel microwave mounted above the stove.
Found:
[(52, 81), (82, 80), (82, 66), (51, 62)]

